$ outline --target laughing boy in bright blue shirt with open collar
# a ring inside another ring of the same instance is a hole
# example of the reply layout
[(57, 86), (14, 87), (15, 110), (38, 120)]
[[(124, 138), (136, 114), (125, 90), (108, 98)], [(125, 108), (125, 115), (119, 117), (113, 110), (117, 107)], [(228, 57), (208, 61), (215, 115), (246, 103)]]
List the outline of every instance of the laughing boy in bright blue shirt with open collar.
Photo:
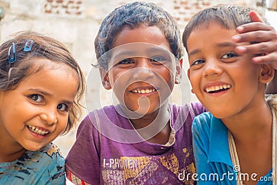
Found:
[(265, 100), (275, 70), (259, 64), (265, 52), (240, 53), (253, 43), (232, 39), (238, 26), (251, 22), (251, 10), (205, 8), (184, 30), (192, 91), (209, 111), (193, 121), (198, 184), (272, 184), (276, 175), (276, 98)]

